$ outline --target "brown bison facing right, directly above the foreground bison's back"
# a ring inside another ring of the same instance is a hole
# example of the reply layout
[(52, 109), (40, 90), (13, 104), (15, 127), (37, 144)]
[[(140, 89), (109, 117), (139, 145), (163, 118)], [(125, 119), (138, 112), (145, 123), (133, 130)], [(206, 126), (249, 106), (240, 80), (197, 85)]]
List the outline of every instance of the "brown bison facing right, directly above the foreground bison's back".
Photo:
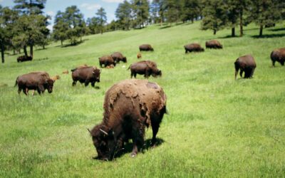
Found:
[(153, 61), (139, 61), (138, 63), (133, 63), (128, 68), (130, 69), (130, 78), (137, 77), (137, 73), (140, 75), (145, 75), (148, 78), (150, 75), (156, 77), (157, 75), (162, 75), (161, 70), (157, 68), (157, 65)]

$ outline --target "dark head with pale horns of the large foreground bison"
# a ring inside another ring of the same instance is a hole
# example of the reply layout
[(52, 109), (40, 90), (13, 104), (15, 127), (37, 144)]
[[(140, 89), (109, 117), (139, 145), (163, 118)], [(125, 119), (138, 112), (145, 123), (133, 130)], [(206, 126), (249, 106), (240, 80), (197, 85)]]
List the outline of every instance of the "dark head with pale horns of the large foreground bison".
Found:
[(116, 140), (113, 131), (108, 130), (104, 125), (97, 125), (90, 131), (90, 135), (98, 153), (97, 159), (113, 159), (116, 149)]

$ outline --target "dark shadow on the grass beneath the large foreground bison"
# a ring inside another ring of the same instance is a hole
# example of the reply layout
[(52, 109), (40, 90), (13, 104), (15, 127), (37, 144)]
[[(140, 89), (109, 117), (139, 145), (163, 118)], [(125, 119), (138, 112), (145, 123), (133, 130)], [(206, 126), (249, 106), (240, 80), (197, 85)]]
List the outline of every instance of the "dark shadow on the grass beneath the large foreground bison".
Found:
[[(165, 140), (162, 140), (160, 138), (157, 138), (157, 141), (156, 141), (156, 144), (155, 144), (155, 147), (159, 147), (160, 145), (162, 145), (162, 143), (165, 142)], [(151, 145), (151, 139), (147, 139), (145, 140), (145, 145), (143, 147), (143, 150), (141, 152), (139, 152), (138, 154), (141, 154), (141, 153), (144, 153), (145, 150), (150, 150), (152, 148), (155, 149), (155, 147), (152, 147)], [(123, 155), (125, 154), (130, 154), (131, 152), (133, 151), (133, 142), (128, 142), (125, 144), (124, 148), (120, 151), (118, 151), (116, 154), (115, 154), (115, 157), (114, 159), (116, 158), (120, 158), (122, 157)], [(98, 159), (98, 157), (93, 157), (93, 159)], [(113, 160), (114, 160), (113, 159)]]

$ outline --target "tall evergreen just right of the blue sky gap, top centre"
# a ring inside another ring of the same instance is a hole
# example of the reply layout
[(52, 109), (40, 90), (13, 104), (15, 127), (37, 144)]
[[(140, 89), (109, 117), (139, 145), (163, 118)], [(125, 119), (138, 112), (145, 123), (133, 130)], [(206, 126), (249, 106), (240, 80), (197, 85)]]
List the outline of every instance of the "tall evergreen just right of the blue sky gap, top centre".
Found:
[(118, 24), (123, 30), (130, 29), (130, 23), (132, 21), (132, 9), (131, 4), (125, 0), (120, 3), (115, 11), (115, 16), (118, 19)]

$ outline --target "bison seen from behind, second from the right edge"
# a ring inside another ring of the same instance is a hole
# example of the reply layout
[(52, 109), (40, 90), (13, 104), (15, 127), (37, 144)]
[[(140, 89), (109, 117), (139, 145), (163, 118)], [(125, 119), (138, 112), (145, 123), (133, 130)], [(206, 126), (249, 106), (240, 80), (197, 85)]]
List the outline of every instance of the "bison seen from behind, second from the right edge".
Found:
[(254, 75), (254, 69), (257, 67), (257, 64), (254, 61), (254, 57), (251, 55), (241, 56), (237, 58), (234, 62), (234, 68), (236, 72), (234, 74), (234, 78), (237, 79), (237, 73), (242, 77), (242, 73), (244, 72), (244, 78), (252, 78)]

